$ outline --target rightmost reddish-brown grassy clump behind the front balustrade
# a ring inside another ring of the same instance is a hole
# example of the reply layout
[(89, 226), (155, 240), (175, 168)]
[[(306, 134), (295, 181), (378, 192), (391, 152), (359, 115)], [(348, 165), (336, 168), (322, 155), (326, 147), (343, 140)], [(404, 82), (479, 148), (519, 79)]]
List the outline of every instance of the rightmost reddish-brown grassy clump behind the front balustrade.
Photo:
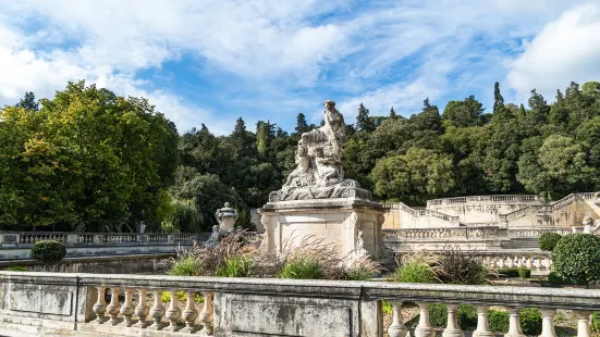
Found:
[(444, 284), (482, 285), (488, 271), (476, 254), (461, 251), (458, 246), (444, 247), (433, 264), (436, 277)]

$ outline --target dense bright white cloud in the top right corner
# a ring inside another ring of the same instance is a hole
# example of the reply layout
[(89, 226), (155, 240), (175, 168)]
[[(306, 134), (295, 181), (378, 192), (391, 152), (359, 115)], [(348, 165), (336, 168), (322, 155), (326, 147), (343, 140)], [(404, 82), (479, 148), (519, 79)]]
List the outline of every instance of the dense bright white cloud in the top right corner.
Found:
[(534, 88), (552, 100), (571, 80), (600, 79), (600, 4), (588, 3), (549, 22), (509, 63), (509, 86), (525, 101)]

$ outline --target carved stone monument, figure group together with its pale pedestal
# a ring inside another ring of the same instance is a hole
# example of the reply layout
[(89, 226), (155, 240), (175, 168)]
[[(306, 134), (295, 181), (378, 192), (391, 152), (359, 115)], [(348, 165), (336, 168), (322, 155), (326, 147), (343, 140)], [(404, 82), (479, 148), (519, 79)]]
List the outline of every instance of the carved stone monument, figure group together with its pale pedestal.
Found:
[(260, 209), (264, 249), (278, 253), (306, 236), (335, 245), (341, 257), (379, 258), (383, 209), (372, 194), (344, 178), (345, 123), (335, 102), (325, 102), (325, 125), (302, 134), (297, 167)]

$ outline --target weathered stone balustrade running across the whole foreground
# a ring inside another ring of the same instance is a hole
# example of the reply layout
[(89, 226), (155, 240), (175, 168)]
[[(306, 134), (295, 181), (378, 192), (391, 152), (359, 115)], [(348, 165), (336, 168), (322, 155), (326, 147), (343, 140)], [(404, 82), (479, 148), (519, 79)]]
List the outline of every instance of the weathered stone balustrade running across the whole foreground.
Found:
[[(302, 332), (314, 337), (379, 337), (383, 335), (379, 301), (388, 300), (393, 313), (390, 337), (407, 334), (401, 314), (406, 301), (419, 307), (416, 336), (433, 334), (429, 305), (441, 303), (448, 308), (444, 336), (463, 335), (456, 309), (473, 304), (477, 336), (493, 336), (488, 309), (500, 305), (509, 311), (506, 336), (524, 337), (518, 309), (538, 308), (541, 336), (555, 336), (553, 317), (563, 309), (574, 311), (577, 336), (590, 337), (590, 315), (600, 310), (600, 290), (593, 289), (19, 272), (0, 272), (0, 328), (82, 336), (297, 336)], [(161, 303), (164, 291), (170, 295), (167, 310)], [(186, 298), (183, 305), (180, 291)]]

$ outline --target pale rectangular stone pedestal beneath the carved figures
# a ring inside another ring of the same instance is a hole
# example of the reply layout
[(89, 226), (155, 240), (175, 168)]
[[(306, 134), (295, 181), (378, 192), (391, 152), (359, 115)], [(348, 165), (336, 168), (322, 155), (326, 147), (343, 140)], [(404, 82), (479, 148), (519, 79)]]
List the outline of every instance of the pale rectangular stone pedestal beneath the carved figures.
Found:
[(269, 202), (259, 210), (265, 225), (264, 249), (279, 254), (282, 247), (297, 247), (310, 236), (333, 244), (348, 261), (381, 257), (383, 209), (379, 202), (350, 198), (329, 198)]

